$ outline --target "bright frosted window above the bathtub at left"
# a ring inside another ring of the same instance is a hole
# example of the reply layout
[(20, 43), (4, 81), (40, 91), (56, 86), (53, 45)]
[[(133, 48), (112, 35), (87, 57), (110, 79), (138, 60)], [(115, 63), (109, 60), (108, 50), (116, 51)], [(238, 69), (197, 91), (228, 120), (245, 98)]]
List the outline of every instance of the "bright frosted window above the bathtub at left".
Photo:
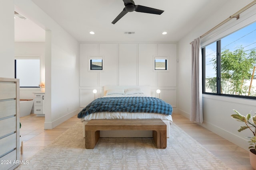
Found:
[(38, 87), (40, 84), (40, 58), (17, 57), (14, 77), (20, 79), (20, 87)]

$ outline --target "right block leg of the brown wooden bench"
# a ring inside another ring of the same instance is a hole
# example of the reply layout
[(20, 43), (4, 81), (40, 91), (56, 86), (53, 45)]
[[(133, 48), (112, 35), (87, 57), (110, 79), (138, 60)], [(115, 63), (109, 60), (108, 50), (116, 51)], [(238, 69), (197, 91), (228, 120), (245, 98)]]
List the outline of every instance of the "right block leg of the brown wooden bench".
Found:
[(158, 149), (166, 149), (167, 147), (166, 131), (153, 131), (153, 139)]

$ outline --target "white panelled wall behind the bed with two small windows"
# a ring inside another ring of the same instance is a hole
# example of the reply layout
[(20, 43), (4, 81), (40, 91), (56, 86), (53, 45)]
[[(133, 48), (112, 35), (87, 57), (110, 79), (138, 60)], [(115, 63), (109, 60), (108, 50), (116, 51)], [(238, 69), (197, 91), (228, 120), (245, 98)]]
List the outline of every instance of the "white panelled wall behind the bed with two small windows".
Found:
[[(102, 43), (80, 44), (80, 107), (103, 96), (103, 86), (151, 86), (152, 96), (176, 107), (176, 44)], [(89, 57), (103, 57), (103, 70), (91, 71)], [(167, 71), (154, 71), (154, 56), (168, 57)]]

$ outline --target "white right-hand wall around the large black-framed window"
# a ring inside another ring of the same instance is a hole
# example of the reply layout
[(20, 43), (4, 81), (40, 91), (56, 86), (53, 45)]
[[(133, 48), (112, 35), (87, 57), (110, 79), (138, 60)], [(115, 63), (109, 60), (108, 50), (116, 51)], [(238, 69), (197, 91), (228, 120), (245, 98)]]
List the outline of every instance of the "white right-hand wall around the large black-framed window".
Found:
[[(230, 0), (230, 3), (221, 6), (212, 17), (202, 22), (201, 25), (194, 28), (191, 33), (185, 35), (178, 43), (178, 108), (180, 113), (186, 117), (190, 116), (191, 103), (191, 45), (190, 42), (200, 35), (204, 34), (212, 27), (226, 20), (229, 16), (235, 14), (238, 10), (249, 4), (250, 0)], [(232, 4), (232, 5), (230, 5)], [(254, 7), (255, 8), (255, 7)], [(255, 9), (250, 9), (255, 14)], [(248, 11), (247, 11), (248, 12)], [(245, 13), (240, 14), (240, 19), (233, 19), (229, 23), (236, 23), (244, 20)], [(227, 23), (228, 24), (228, 23)], [(237, 109), (242, 114), (247, 114), (252, 110), (256, 111), (255, 100), (244, 100), (238, 98), (228, 98), (221, 96), (203, 95), (204, 123), (202, 126), (210, 129), (214, 133), (230, 140), (232, 143), (248, 150), (248, 143), (244, 136), (252, 135), (248, 132), (237, 131), (241, 124), (233, 120), (230, 115), (234, 114), (232, 109)]]

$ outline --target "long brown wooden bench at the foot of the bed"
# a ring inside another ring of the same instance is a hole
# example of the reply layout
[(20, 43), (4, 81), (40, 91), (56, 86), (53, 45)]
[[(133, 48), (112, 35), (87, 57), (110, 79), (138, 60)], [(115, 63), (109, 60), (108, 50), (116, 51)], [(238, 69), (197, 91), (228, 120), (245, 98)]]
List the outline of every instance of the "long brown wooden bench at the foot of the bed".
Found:
[(161, 119), (92, 119), (85, 125), (85, 148), (94, 149), (100, 138), (100, 131), (148, 130), (152, 131), (156, 147), (167, 146), (166, 124)]

